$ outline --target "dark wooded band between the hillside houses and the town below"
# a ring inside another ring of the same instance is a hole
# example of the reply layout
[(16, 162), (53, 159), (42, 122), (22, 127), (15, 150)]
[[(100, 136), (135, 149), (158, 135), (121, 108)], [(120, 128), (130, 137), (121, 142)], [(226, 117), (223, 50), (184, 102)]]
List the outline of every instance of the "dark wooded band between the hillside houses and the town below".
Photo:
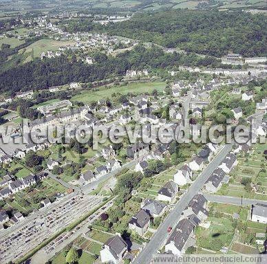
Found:
[(158, 47), (145, 48), (136, 46), (118, 56), (96, 54), (96, 63), (87, 65), (77, 61), (76, 57), (68, 59), (65, 56), (46, 59), (36, 59), (24, 65), (12, 67), (0, 74), (0, 91), (14, 93), (30, 89), (46, 89), (56, 85), (65, 85), (73, 81), (87, 83), (103, 80), (114, 76), (123, 76), (127, 69), (158, 69), (174, 65), (210, 65), (216, 66), (214, 58), (202, 58), (195, 54), (167, 54)]

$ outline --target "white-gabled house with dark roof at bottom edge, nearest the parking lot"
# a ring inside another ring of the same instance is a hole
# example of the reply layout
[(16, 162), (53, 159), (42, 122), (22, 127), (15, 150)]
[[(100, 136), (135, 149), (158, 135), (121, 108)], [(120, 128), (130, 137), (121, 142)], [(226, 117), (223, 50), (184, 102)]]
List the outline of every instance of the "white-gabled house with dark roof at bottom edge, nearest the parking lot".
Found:
[(100, 259), (102, 263), (118, 264), (126, 254), (127, 243), (117, 234), (105, 242), (100, 251)]

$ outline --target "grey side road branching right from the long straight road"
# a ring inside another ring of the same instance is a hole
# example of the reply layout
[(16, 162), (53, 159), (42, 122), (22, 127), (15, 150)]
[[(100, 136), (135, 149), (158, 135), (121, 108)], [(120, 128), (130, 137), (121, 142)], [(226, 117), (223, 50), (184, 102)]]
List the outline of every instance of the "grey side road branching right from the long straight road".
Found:
[[(231, 197), (231, 196), (224, 196), (224, 195), (211, 195), (208, 193), (204, 193), (203, 195), (204, 195), (204, 197), (206, 197), (206, 199), (208, 201), (213, 201), (215, 203), (228, 203), (228, 204), (233, 204), (236, 206), (242, 206), (241, 197)], [(244, 206), (251, 206), (252, 204), (256, 204), (256, 203), (267, 204), (267, 201), (243, 198), (243, 205)]]

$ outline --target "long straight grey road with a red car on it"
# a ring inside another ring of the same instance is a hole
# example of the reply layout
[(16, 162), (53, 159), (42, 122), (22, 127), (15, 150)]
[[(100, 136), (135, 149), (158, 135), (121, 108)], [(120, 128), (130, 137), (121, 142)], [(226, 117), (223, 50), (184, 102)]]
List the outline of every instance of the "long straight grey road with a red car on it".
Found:
[(231, 151), (232, 144), (227, 144), (222, 148), (222, 151), (217, 154), (213, 161), (202, 171), (202, 173), (195, 179), (191, 187), (187, 192), (182, 195), (180, 201), (176, 204), (175, 208), (169, 213), (165, 221), (160, 225), (158, 231), (152, 236), (149, 243), (146, 245), (144, 250), (140, 252), (134, 264), (147, 264), (151, 262), (154, 254), (162, 247), (165, 239), (167, 239), (167, 229), (169, 226), (174, 226), (178, 223), (182, 211), (189, 204), (189, 201), (200, 191), (204, 186), (206, 179), (208, 179), (213, 173), (213, 170), (220, 165), (224, 157)]

